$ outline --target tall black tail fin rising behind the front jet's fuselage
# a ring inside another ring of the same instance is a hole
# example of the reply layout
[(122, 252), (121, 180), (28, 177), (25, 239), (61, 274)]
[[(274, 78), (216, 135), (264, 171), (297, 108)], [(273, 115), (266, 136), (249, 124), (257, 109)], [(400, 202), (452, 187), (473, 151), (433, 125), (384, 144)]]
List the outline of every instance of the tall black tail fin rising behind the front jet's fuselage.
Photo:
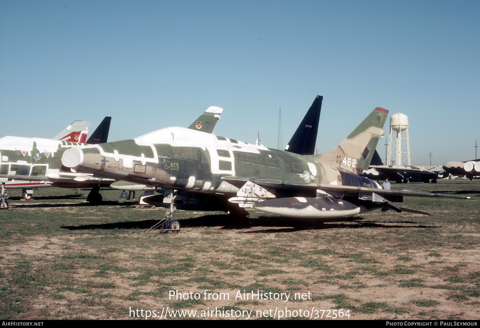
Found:
[(318, 122), (320, 110), (322, 109), (323, 96), (317, 96), (310, 109), (301, 121), (299, 127), (288, 141), (286, 152), (293, 152), (300, 155), (313, 155), (315, 143), (317, 142)]

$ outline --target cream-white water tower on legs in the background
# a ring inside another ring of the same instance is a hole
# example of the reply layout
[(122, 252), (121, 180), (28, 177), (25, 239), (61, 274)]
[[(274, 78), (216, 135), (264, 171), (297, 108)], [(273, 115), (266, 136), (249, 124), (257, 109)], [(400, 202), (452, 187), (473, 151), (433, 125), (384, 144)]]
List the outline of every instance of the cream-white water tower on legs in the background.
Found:
[[(410, 145), (408, 143), (408, 117), (397, 113), (390, 117), (390, 140), (388, 141), (388, 163), (392, 165), (410, 165)], [(396, 138), (393, 138), (393, 132)], [(393, 145), (393, 147), (392, 147)], [(393, 153), (393, 156), (391, 154)], [(407, 156), (402, 154), (407, 154)], [(405, 163), (406, 162), (406, 163)]]

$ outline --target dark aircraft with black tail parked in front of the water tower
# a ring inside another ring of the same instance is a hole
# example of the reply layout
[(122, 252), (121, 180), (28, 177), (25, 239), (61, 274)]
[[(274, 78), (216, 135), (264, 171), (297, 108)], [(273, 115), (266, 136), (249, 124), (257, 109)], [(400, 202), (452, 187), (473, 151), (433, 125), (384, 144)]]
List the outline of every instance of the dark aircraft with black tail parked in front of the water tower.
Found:
[(432, 183), (436, 183), (437, 179), (443, 179), (450, 175), (440, 165), (384, 165), (376, 150), (368, 170), (363, 170), (360, 174), (372, 180), (380, 181), (388, 178), (391, 181), (396, 181), (396, 183), (401, 183), (402, 181), (404, 183), (429, 183), (430, 180), (432, 180)]

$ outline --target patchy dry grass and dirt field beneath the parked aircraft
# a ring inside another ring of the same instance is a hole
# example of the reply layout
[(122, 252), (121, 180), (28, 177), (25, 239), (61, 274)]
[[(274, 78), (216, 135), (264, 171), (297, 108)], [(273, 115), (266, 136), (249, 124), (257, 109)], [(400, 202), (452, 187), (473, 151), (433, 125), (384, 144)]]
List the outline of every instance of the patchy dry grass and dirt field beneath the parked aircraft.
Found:
[[(402, 206), (435, 216), (373, 211), (311, 229), (258, 211), (242, 222), (179, 211), (179, 234), (145, 234), (165, 209), (135, 209), (117, 190), (101, 191), (100, 206), (85, 203), (87, 190), (43, 188), (28, 201), (11, 190), (16, 207), (0, 211), (0, 319), (126, 319), (131, 309), (158, 318), (167, 307), (197, 317), (252, 310), (250, 319), (286, 307), (313, 317), (343, 308), (351, 319), (480, 318), (480, 181), (408, 187), (476, 199), (408, 198)], [(170, 290), (201, 297), (169, 299)], [(235, 299), (244, 290), (290, 298)]]

